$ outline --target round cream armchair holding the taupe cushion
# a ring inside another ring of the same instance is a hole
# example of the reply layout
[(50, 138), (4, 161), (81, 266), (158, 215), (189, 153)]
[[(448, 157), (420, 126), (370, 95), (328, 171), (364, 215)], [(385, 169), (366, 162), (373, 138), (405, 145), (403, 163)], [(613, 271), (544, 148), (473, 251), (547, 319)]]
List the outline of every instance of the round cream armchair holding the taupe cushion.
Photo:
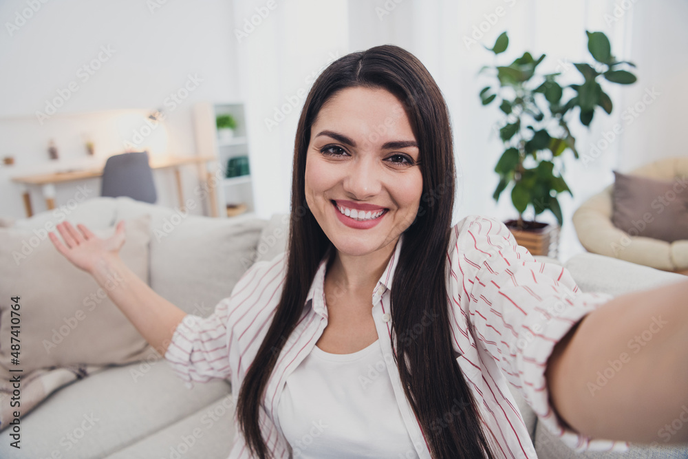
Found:
[[(665, 158), (630, 172), (630, 175), (673, 180), (688, 175), (688, 157)], [(630, 236), (612, 224), (614, 184), (581, 204), (573, 215), (581, 244), (589, 252), (623, 259), (652, 268), (688, 274), (688, 240), (672, 243)]]

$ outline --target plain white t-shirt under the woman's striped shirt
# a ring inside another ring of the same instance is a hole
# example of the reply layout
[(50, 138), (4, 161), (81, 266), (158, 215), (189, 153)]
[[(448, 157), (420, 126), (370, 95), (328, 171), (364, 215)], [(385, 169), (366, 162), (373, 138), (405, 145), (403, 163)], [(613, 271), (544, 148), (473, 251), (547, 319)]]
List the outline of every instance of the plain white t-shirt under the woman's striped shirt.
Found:
[(314, 346), (277, 407), (294, 458), (418, 458), (386, 365), (379, 341), (353, 354)]

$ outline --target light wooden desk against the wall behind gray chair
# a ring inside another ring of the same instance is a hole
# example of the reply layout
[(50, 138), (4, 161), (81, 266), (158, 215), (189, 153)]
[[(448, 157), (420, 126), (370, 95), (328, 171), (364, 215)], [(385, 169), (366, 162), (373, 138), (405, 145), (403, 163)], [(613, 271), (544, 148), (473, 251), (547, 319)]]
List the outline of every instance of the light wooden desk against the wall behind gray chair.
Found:
[[(166, 156), (163, 158), (151, 158), (151, 169), (166, 169), (173, 168), (175, 173), (175, 181), (177, 182), (177, 195), (180, 202), (180, 208), (184, 208), (184, 193), (182, 192), (182, 175), (180, 173), (180, 166), (187, 164), (201, 164), (204, 162), (217, 161), (215, 156)], [(13, 182), (21, 183), (25, 186), (38, 185), (41, 186), (45, 205), (48, 210), (55, 209), (55, 184), (62, 182), (74, 182), (74, 180), (85, 180), (87, 178), (101, 177), (103, 175), (103, 167), (96, 167), (92, 169), (74, 169), (64, 172), (39, 173), (34, 175), (22, 175), (20, 177), (12, 177)], [(210, 175), (206, 176), (206, 180)], [(211, 199), (211, 209), (215, 209), (213, 193), (208, 193)], [(28, 189), (23, 193), (24, 209), (26, 215), (30, 217), (33, 215), (31, 206), (31, 195)]]

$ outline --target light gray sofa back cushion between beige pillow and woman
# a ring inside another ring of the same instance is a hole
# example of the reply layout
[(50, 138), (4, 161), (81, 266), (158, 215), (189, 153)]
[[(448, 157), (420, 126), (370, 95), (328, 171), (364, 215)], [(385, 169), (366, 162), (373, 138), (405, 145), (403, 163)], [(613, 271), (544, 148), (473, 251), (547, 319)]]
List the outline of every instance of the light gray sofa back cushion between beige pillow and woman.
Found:
[(228, 297), (266, 222), (191, 215), (117, 198), (118, 218), (151, 215), (151, 288), (189, 314), (207, 317)]

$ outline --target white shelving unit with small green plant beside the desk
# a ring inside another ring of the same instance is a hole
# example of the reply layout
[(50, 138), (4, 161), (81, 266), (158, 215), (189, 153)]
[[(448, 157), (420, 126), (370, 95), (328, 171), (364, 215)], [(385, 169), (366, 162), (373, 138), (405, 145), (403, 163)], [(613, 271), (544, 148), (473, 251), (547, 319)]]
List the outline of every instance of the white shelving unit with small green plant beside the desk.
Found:
[[(217, 135), (215, 117), (230, 114), (237, 120), (237, 128), (230, 139)], [(208, 182), (214, 184), (209, 190), (213, 217), (227, 217), (228, 206), (246, 206), (236, 216), (255, 213), (253, 182), (251, 175), (227, 177), (227, 166), (231, 158), (248, 157), (248, 169), (252, 171), (248, 138), (246, 137), (246, 115), (242, 103), (197, 103), (193, 106), (193, 122), (197, 154), (215, 156), (217, 162), (208, 170)]]

